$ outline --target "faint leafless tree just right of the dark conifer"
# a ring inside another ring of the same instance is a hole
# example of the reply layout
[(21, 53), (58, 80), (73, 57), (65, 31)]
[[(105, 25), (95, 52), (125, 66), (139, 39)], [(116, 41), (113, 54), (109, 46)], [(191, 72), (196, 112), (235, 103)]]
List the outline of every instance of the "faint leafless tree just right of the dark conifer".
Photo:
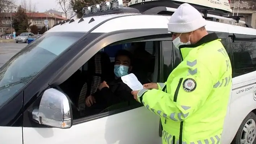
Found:
[(27, 14), (27, 18), (29, 19), (28, 23), (29, 25), (32, 24), (33, 15), (36, 10), (35, 4), (32, 3), (31, 0), (22, 0), (21, 8), (25, 10), (25, 13)]

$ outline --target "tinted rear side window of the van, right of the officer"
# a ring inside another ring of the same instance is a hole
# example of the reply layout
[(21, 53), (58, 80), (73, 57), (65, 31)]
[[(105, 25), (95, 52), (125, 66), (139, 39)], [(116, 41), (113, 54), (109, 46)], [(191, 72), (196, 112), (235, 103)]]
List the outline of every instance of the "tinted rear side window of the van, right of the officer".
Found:
[(243, 75), (256, 70), (256, 42), (234, 42), (234, 76)]

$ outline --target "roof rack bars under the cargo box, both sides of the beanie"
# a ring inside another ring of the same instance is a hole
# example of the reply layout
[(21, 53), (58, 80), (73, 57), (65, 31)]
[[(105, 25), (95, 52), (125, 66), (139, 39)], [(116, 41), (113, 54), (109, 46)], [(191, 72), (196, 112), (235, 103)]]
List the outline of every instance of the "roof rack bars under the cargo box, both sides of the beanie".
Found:
[[(143, 12), (143, 14), (159, 14), (159, 13), (161, 13), (164, 15), (172, 15), (172, 13), (163, 13), (163, 12), (173, 12), (174, 13), (176, 10), (177, 10), (176, 8), (168, 8), (166, 6), (158, 6), (158, 7), (154, 7), (154, 8), (146, 10), (145, 12)], [(216, 16), (213, 14), (208, 14), (209, 11), (213, 11), (213, 10), (214, 10), (214, 8), (198, 9), (198, 11), (202, 14), (202, 17), (204, 17), (206, 20), (219, 22), (219, 20), (222, 19), (222, 20), (226, 20), (226, 21), (241, 23), (241, 24), (244, 24), (244, 26), (246, 26), (246, 27), (252, 28), (252, 26), (248, 25), (246, 22), (240, 21), (240, 18), (244, 17), (244, 16), (222, 17), (222, 16)]]

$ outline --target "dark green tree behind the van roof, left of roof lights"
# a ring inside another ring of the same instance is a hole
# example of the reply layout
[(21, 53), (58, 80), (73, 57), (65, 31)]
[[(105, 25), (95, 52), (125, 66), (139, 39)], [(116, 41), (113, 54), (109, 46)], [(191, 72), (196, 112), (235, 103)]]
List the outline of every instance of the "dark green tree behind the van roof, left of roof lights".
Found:
[(81, 18), (83, 16), (82, 9), (86, 6), (100, 4), (106, 0), (71, 0), (71, 6), (74, 12), (77, 13), (77, 17)]

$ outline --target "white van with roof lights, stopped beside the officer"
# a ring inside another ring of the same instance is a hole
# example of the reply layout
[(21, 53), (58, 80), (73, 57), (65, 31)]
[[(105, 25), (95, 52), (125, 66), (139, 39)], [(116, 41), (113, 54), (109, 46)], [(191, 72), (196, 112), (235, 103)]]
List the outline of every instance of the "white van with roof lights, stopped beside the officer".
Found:
[[(83, 18), (55, 25), (0, 68), (2, 144), (161, 144), (159, 116), (134, 100), (92, 115), (83, 107), (85, 96), (111, 77), (104, 72), (114, 69), (119, 49), (133, 48), (136, 53), (140, 48), (150, 56), (135, 59), (133, 73), (139, 80), (165, 82), (180, 63), (167, 32), (170, 16), (159, 14), (175, 9), (161, 6), (141, 14), (121, 8), (118, 0), (109, 4), (85, 8)], [(256, 30), (242, 21), (238, 24), (244, 27), (236, 26), (232, 18), (205, 18), (206, 29), (222, 40), (233, 68), (222, 144), (254, 144)], [(216, 22), (221, 20), (234, 25)]]

